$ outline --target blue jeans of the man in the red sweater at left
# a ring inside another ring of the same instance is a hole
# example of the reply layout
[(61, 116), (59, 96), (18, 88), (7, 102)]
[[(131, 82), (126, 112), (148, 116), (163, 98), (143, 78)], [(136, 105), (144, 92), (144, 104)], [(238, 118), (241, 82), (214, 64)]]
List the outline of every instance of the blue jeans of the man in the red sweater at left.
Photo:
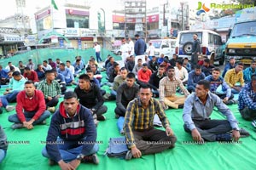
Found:
[[(29, 122), (32, 117), (35, 115), (37, 111), (32, 111), (32, 112), (27, 112), (24, 111), (24, 116), (26, 117), (26, 122)], [(47, 119), (50, 116), (49, 111), (44, 111), (43, 115), (41, 115), (38, 120), (36, 120), (35, 122), (33, 122), (32, 125), (37, 125), (40, 124), (41, 122), (44, 122), (45, 119)], [(22, 123), (20, 122), (20, 119), (18, 118), (17, 114), (14, 115), (10, 115), (8, 117), (9, 122), (15, 122), (15, 123)]]

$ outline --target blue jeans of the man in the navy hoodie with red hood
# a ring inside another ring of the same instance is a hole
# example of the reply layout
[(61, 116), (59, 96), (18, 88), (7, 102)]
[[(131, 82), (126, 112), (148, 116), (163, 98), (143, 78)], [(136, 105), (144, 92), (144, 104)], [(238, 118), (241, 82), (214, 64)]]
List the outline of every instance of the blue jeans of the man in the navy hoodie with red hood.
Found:
[[(92, 154), (95, 154), (99, 150), (99, 145), (94, 144), (93, 148), (89, 152), (83, 153), (83, 144), (79, 145), (78, 141), (67, 141), (60, 139), (59, 137), (57, 141), (60, 142), (60, 144), (58, 144), (58, 148), (61, 154), (61, 158), (64, 161), (73, 161), (77, 158), (77, 156), (79, 156), (79, 154), (83, 154), (84, 156), (90, 156)], [(80, 141), (86, 141), (86, 137), (84, 137), (84, 139), (81, 139)], [(61, 142), (64, 142), (64, 144), (61, 144)], [(77, 147), (74, 148), (74, 145), (77, 145)], [(54, 160), (53, 158), (49, 157), (46, 147), (44, 147), (44, 149), (42, 150), (42, 155), (44, 157)]]

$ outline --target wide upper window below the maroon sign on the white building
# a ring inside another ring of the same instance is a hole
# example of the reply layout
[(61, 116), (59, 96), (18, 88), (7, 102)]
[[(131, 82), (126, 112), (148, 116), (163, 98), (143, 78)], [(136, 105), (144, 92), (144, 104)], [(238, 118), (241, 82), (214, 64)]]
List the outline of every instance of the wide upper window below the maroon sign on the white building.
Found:
[(67, 28), (89, 28), (89, 16), (67, 14)]

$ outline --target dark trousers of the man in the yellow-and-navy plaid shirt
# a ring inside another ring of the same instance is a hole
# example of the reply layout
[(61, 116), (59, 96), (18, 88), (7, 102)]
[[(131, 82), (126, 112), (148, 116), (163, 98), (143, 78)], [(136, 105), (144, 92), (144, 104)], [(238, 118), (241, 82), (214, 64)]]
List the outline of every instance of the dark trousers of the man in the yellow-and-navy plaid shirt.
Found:
[(165, 131), (150, 129), (143, 131), (132, 131), (136, 147), (143, 155), (159, 153), (163, 150), (174, 148), (176, 136), (167, 136)]

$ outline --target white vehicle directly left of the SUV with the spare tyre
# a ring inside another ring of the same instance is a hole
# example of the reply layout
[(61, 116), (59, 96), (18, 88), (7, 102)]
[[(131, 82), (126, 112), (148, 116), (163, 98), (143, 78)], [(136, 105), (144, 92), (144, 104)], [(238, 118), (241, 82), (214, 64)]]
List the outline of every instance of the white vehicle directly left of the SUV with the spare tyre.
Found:
[(152, 42), (154, 46), (154, 55), (156, 57), (160, 57), (160, 54), (165, 54), (171, 59), (172, 54), (175, 53), (176, 39), (153, 39), (149, 42)]

